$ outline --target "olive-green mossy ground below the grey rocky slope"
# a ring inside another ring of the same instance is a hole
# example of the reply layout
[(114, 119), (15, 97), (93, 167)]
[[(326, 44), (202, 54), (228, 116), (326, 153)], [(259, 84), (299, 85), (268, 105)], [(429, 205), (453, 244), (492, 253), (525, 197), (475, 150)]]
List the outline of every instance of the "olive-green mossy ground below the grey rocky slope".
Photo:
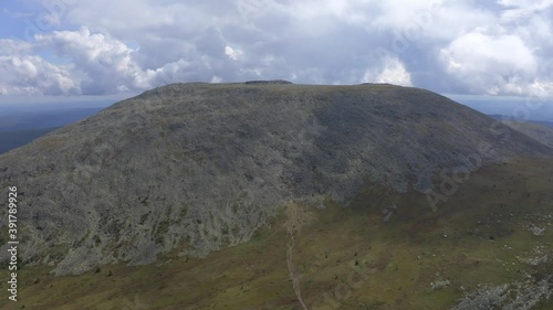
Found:
[[(309, 216), (295, 236), (293, 263), (306, 304), (450, 309), (482, 285), (551, 274), (551, 263), (524, 260), (553, 258), (552, 163), (481, 168), (437, 212), (425, 195), (372, 185), (347, 207), (302, 206)], [(282, 213), (250, 242), (204, 259), (167, 254), (148, 266), (102, 266), (71, 277), (25, 267), (19, 271), (19, 301), (3, 299), (0, 308), (301, 309), (286, 266), (285, 221)], [(536, 236), (531, 225), (545, 231)], [(553, 300), (540, 307), (552, 309)]]

